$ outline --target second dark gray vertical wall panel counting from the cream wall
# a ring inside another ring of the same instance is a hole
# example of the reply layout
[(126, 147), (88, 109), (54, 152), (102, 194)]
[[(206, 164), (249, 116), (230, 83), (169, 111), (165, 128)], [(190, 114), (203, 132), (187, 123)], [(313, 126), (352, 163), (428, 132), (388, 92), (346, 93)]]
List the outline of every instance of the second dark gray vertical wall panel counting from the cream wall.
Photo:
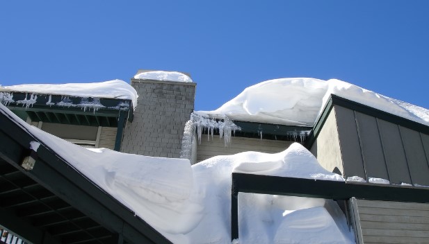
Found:
[(377, 120), (373, 116), (359, 112), (355, 112), (355, 116), (366, 175), (389, 179)]

